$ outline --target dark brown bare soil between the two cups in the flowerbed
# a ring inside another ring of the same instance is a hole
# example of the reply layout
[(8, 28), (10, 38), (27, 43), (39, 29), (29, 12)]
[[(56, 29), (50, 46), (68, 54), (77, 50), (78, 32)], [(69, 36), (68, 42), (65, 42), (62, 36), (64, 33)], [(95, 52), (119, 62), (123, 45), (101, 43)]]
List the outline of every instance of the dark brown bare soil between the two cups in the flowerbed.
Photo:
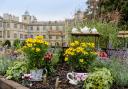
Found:
[(47, 78), (47, 84), (35, 82), (30, 89), (55, 89), (56, 78), (59, 78), (60, 81), (57, 89), (82, 89), (82, 83), (79, 85), (69, 84), (66, 78), (68, 72), (71, 71), (67, 64), (58, 64), (56, 72)]

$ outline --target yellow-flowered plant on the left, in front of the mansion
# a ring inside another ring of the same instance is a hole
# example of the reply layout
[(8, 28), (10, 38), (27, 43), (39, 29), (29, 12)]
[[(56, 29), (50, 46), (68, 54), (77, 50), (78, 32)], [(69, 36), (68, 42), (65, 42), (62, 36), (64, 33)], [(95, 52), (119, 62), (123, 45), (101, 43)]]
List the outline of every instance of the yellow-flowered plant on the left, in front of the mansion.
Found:
[(48, 42), (44, 41), (43, 36), (28, 38), (25, 42), (23, 51), (29, 59), (29, 68), (41, 68), (43, 63), (42, 58), (48, 49)]

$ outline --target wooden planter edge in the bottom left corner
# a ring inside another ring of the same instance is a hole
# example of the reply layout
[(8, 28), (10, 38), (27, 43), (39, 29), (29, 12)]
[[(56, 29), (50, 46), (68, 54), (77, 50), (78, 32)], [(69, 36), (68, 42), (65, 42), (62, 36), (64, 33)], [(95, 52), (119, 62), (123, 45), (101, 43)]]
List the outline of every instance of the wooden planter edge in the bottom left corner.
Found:
[(24, 87), (21, 84), (18, 84), (17, 82), (14, 82), (12, 80), (7, 80), (3, 76), (0, 76), (0, 89), (29, 89), (27, 87)]

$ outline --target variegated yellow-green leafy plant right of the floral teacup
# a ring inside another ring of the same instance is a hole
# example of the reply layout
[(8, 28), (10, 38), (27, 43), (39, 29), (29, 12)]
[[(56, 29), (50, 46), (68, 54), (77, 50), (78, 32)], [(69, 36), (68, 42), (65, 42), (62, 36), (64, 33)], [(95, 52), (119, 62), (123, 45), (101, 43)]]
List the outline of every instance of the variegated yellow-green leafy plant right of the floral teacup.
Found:
[(89, 74), (84, 82), (84, 89), (110, 89), (113, 78), (110, 70), (106, 68), (96, 69)]

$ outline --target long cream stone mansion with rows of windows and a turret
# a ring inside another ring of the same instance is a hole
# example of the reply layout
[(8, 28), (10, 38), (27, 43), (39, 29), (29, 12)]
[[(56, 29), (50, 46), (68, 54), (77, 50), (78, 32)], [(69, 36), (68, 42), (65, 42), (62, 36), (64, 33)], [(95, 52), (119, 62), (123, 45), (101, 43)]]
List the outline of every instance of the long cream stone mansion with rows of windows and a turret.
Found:
[[(78, 15), (77, 15), (78, 14)], [(83, 14), (76, 13), (76, 19), (80, 19)], [(4, 14), (0, 17), (0, 41), (10, 40), (11, 43), (15, 39), (21, 41), (26, 38), (35, 36), (44, 36), (44, 39), (55, 46), (56, 43), (60, 46), (69, 43), (69, 24), (73, 25), (74, 19), (64, 21), (37, 21), (35, 16), (31, 16), (27, 11), (22, 15), (22, 21), (19, 17), (10, 14)]]

